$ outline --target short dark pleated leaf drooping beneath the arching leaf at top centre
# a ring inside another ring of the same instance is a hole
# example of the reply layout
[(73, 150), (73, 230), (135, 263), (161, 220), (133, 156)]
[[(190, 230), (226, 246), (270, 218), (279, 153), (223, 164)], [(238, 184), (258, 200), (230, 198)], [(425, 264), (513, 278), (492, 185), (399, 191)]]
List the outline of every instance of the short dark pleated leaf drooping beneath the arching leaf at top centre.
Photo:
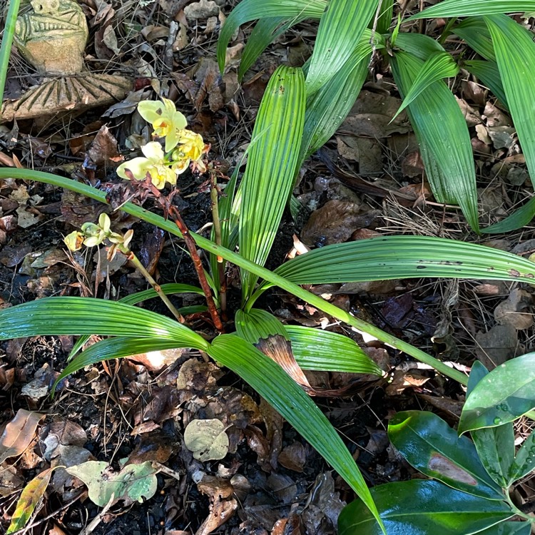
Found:
[(303, 17), (292, 16), (290, 19), (285, 17), (275, 16), (260, 19), (255, 28), (251, 32), (243, 54), (240, 59), (240, 68), (238, 68), (238, 80), (241, 81), (245, 73), (249, 70), (253, 63), (258, 59), (260, 54), (265, 51), (267, 46), (271, 44), (278, 36), (281, 36), (288, 29), (295, 24), (299, 24)]

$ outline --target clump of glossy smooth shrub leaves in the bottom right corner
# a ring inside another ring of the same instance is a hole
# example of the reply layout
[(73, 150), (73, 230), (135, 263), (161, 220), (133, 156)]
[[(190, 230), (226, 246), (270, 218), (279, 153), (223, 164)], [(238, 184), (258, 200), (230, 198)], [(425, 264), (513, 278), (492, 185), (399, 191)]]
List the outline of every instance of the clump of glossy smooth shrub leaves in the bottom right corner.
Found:
[[(513, 422), (535, 406), (535, 353), (490, 373), (475, 362), (458, 436), (431, 412), (398, 412), (388, 426), (397, 451), (427, 477), (372, 489), (387, 533), (529, 535), (533, 517), (511, 498), (519, 479), (535, 469), (535, 432), (515, 452)], [(514, 516), (522, 521), (510, 521)], [(340, 514), (341, 535), (381, 531), (357, 500)]]

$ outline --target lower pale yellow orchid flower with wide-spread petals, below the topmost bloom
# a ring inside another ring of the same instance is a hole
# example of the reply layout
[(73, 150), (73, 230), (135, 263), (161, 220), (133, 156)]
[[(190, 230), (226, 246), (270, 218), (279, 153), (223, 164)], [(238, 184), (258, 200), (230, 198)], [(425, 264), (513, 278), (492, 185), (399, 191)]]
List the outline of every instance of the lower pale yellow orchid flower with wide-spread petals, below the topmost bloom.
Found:
[[(121, 163), (117, 168), (117, 174), (121, 178), (130, 180), (132, 177), (136, 180), (145, 180), (147, 173), (151, 176), (151, 182), (161, 190), (168, 182), (171, 185), (176, 184), (176, 173), (170, 169), (165, 162), (163, 149), (157, 141), (151, 141), (141, 147), (141, 151), (146, 158), (133, 158), (131, 161)], [(128, 175), (126, 172), (131, 173)]]

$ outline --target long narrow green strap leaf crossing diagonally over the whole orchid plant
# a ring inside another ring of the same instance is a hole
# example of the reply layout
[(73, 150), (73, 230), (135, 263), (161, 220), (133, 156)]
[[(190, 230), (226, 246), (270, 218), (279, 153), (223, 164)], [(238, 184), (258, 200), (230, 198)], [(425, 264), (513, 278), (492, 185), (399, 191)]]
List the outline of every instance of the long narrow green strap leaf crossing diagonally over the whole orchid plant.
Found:
[[(79, 193), (81, 195), (86, 195), (88, 198), (98, 200), (101, 203), (106, 203), (106, 194), (103, 193), (103, 191), (97, 190), (96, 188), (91, 188), (91, 186), (88, 186), (81, 182), (76, 182), (76, 180), (71, 180), (70, 178), (53, 175), (51, 173), (43, 173), (42, 171), (28, 169), (0, 168), (0, 180), (5, 178), (24, 178), (26, 180), (38, 180), (39, 182), (51, 184), (58, 188), (66, 188), (68, 190), (75, 191), (76, 193)], [(172, 221), (165, 220), (161, 217), (161, 215), (151, 213), (148, 210), (141, 208), (141, 206), (137, 206), (133, 203), (125, 203), (121, 207), (121, 210), (133, 215), (136, 218), (141, 218), (147, 223), (151, 223), (151, 225), (156, 225), (158, 228), (161, 228), (162, 230), (165, 230), (170, 234), (181, 237), (180, 231), (178, 230), (176, 225)], [(465, 374), (454, 370), (453, 368), (448, 367), (447, 365), (444, 365), (444, 363), (435, 359), (431, 355), (428, 355), (426, 352), (419, 350), (417, 347), (414, 347), (413, 345), (404, 342), (404, 340), (399, 340), (399, 338), (389, 334), (388, 332), (384, 332), (378, 327), (375, 327), (370, 323), (367, 323), (355, 316), (352, 316), (349, 312), (346, 312), (345, 310), (342, 310), (336, 305), (332, 305), (332, 303), (323, 300), (321, 297), (314, 295), (311, 292), (308, 292), (304, 288), (294, 284), (293, 282), (290, 282), (290, 280), (287, 280), (284, 277), (280, 277), (280, 275), (277, 275), (277, 273), (267, 270), (265, 269), (265, 267), (262, 267), (258, 264), (250, 262), (250, 260), (243, 258), (238, 253), (235, 253), (232, 250), (228, 250), (227, 248), (221, 247), (220, 245), (216, 245), (215, 243), (213, 243), (213, 241), (208, 240), (208, 238), (203, 238), (203, 236), (201, 235), (195, 233), (191, 234), (195, 239), (195, 243), (197, 243), (200, 248), (203, 248), (205, 251), (208, 251), (208, 253), (222, 256), (225, 260), (228, 260), (229, 262), (238, 265), (238, 267), (255, 273), (255, 275), (257, 275), (258, 277), (262, 277), (264, 280), (269, 281), (272, 285), (277, 285), (283, 290), (290, 292), (292, 295), (295, 295), (296, 297), (299, 297), (300, 299), (309, 302), (310, 305), (316, 307), (318, 310), (322, 310), (322, 312), (325, 312), (326, 314), (329, 314), (332, 317), (336, 317), (338, 320), (345, 322), (348, 325), (351, 325), (352, 327), (355, 327), (355, 329), (357, 330), (369, 333), (370, 335), (377, 338), (377, 340), (381, 340), (382, 342), (391, 345), (392, 347), (396, 347), (399, 351), (406, 352), (407, 355), (411, 355), (420, 362), (424, 362), (425, 364), (432, 366), (438, 372), (441, 372), (447, 377), (452, 377), (452, 379), (456, 380), (461, 384), (467, 384), (467, 376)]]

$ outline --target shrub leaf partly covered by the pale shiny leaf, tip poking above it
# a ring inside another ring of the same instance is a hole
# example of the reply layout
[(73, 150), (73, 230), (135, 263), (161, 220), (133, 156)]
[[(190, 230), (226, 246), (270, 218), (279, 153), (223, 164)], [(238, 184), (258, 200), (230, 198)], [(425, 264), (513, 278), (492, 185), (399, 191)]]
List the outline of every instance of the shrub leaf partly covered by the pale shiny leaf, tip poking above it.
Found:
[[(489, 370), (475, 361), (468, 378), (467, 397)], [(481, 464), (501, 487), (509, 486), (509, 472), (514, 461), (514, 429), (511, 422), (498, 427), (475, 429), (471, 433)]]

